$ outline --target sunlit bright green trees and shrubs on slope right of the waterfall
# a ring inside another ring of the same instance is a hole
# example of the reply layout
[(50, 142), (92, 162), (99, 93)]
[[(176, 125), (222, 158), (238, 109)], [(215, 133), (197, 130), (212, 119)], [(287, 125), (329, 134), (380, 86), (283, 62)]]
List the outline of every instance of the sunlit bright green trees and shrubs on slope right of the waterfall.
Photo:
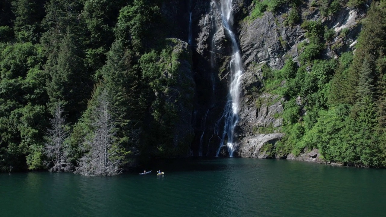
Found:
[(326, 161), (386, 166), (385, 2), (372, 2), (361, 24), (354, 53), (322, 59), (334, 32), (320, 21), (304, 20), (309, 42), (298, 47), (299, 64), (287, 59), (281, 70), (263, 67), (263, 91), (286, 98), (281, 129), (286, 136), (270, 153), (318, 148)]

